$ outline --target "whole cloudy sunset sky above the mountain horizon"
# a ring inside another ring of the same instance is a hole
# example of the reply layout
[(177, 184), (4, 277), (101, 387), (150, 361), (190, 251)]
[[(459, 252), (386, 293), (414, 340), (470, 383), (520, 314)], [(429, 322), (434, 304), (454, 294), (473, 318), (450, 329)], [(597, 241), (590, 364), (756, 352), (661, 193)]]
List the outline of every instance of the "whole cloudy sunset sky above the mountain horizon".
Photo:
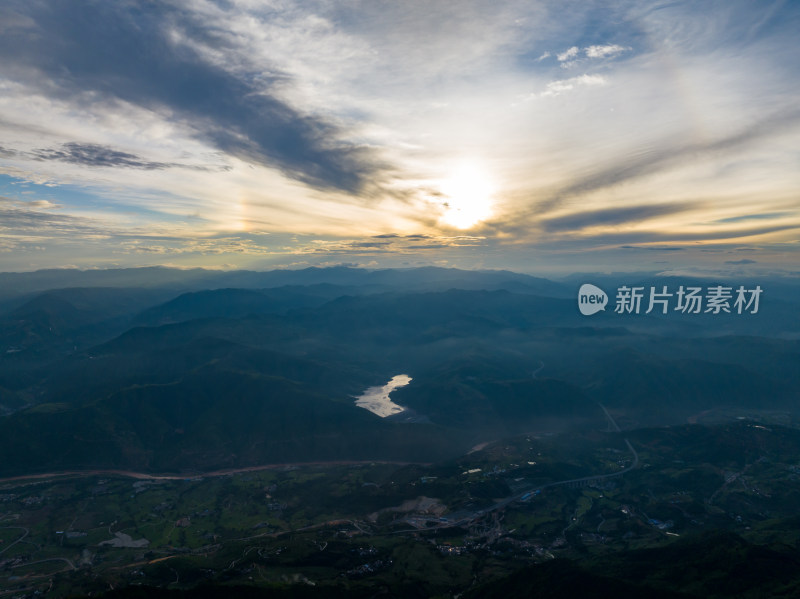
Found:
[(800, 2), (0, 1), (0, 270), (800, 275)]

